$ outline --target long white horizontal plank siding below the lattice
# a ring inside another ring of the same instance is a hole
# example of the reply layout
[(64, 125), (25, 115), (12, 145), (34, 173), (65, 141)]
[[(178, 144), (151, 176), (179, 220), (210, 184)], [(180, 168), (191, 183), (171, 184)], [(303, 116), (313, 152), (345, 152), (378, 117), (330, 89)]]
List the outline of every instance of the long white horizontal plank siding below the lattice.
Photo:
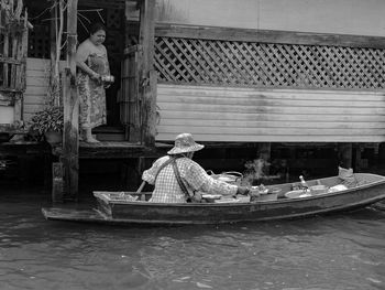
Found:
[(157, 140), (383, 142), (385, 92), (157, 85)]

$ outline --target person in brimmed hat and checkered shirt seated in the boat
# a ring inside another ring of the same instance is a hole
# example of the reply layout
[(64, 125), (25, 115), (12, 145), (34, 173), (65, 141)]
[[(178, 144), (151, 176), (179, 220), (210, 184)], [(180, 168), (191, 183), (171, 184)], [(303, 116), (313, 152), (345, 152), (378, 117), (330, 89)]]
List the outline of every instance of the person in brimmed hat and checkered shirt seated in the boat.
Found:
[(142, 180), (155, 185), (148, 202), (186, 203), (199, 202), (201, 193), (221, 195), (246, 195), (246, 186), (228, 184), (215, 180), (195, 161), (194, 153), (205, 146), (196, 143), (190, 133), (180, 133), (167, 155), (157, 159), (145, 170)]

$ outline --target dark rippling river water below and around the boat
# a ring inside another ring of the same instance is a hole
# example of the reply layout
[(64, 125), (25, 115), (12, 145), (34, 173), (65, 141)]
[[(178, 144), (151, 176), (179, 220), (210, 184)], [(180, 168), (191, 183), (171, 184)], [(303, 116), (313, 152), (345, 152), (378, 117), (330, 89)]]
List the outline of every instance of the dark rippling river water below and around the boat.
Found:
[(385, 289), (385, 212), (221, 226), (47, 222), (0, 189), (0, 289)]

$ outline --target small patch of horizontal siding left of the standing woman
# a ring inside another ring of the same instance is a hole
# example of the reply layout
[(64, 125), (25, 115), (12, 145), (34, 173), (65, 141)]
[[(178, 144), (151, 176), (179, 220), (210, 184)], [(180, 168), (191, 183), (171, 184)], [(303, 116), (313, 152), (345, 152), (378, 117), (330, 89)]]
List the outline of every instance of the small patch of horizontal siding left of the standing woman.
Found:
[(24, 121), (43, 109), (48, 88), (50, 60), (26, 58), (26, 88), (24, 93)]

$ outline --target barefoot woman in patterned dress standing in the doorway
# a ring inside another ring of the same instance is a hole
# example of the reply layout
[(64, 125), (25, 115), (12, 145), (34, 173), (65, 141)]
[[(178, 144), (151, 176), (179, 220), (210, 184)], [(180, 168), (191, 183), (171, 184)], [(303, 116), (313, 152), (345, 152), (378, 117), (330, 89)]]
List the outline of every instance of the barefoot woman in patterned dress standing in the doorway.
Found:
[(76, 52), (80, 104), (79, 128), (80, 137), (86, 142), (99, 142), (92, 137), (91, 130), (107, 122), (102, 76), (110, 75), (110, 67), (107, 50), (102, 44), (105, 40), (106, 28), (101, 23), (96, 23), (90, 29), (90, 36), (79, 45)]

